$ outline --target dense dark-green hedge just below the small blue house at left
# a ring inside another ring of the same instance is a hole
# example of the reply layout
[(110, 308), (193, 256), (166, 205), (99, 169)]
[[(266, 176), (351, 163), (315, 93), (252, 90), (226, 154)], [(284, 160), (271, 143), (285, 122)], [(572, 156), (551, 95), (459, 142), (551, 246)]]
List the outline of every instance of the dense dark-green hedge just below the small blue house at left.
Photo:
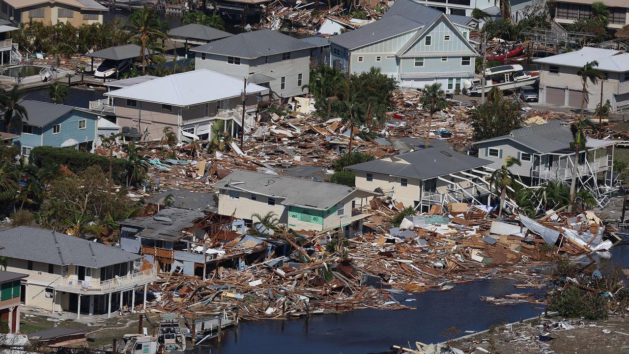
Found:
[(43, 166), (64, 165), (73, 173), (85, 171), (88, 166), (99, 166), (103, 172), (109, 174), (109, 166), (113, 168), (113, 179), (119, 185), (126, 185), (126, 171), (130, 163), (126, 159), (113, 158), (90, 154), (75, 149), (62, 147), (38, 146), (33, 147), (30, 155), (30, 163), (42, 168)]

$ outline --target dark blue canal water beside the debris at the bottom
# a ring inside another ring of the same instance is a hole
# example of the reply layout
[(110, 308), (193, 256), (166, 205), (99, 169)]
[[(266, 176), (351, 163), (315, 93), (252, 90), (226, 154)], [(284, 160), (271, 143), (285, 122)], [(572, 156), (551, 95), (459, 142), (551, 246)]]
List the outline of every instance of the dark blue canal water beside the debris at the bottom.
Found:
[[(593, 260), (610, 260), (626, 268), (629, 246), (595, 253)], [(589, 259), (589, 258), (586, 258)], [(220, 346), (197, 347), (196, 353), (209, 354), (365, 354), (387, 350), (391, 345), (415, 347), (415, 341), (437, 343), (441, 335), (455, 326), (460, 331), (483, 331), (493, 324), (515, 322), (543, 313), (534, 304), (491, 305), (479, 295), (504, 295), (537, 292), (512, 286), (513, 280), (492, 278), (455, 285), (447, 292), (428, 292), (409, 296), (402, 301), (412, 309), (387, 311), (361, 309), (338, 315), (313, 316), (304, 319), (265, 320), (240, 323), (238, 329), (223, 332)], [(396, 298), (397, 299), (397, 298)], [(465, 334), (465, 333), (463, 333)]]

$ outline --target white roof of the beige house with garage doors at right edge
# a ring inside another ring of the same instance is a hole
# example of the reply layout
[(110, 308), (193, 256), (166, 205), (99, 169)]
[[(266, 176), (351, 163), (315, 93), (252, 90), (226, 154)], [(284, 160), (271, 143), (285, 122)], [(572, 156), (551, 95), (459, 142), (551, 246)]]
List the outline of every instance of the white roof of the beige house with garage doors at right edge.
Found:
[(574, 52), (553, 55), (542, 59), (535, 59), (534, 62), (544, 64), (555, 64), (559, 66), (583, 67), (588, 62), (598, 61), (601, 71), (625, 72), (629, 71), (629, 54), (620, 50), (583, 47)]

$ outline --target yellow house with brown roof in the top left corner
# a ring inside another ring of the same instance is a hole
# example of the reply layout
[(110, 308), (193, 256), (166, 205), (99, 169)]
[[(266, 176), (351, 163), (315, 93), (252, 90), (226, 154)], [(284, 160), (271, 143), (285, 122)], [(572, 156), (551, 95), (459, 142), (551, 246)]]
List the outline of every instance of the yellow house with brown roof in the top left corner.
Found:
[(95, 0), (0, 0), (0, 14), (16, 23), (29, 21), (54, 25), (57, 22), (74, 26), (103, 23), (108, 8)]

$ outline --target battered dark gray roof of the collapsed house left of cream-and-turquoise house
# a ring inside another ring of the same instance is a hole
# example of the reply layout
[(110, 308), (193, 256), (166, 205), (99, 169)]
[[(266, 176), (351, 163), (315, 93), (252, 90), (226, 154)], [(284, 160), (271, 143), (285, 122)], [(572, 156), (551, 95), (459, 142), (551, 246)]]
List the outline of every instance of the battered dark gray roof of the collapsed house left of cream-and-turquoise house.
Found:
[(119, 224), (121, 226), (137, 226), (138, 236), (150, 239), (178, 240), (187, 235), (183, 229), (194, 226), (194, 222), (205, 217), (204, 212), (184, 208), (167, 207), (152, 216), (135, 217), (126, 219)]

